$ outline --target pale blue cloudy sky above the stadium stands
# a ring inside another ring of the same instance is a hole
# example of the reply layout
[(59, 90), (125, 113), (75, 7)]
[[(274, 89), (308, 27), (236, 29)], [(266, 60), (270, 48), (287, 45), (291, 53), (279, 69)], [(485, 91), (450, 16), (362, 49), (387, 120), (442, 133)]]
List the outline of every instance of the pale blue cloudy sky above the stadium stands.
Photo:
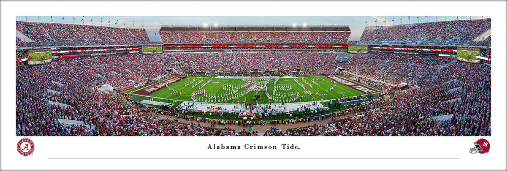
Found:
[[(52, 16), (54, 23), (63, 23), (64, 16)], [(92, 16), (84, 16), (84, 23), (81, 22), (83, 16), (74, 16), (76, 24), (92, 25)], [(102, 26), (109, 26), (107, 23), (111, 20), (111, 26), (118, 27), (143, 28), (148, 32), (148, 36), (152, 41), (159, 41), (160, 37), (157, 33), (160, 26), (163, 25), (322, 25), (322, 24), (343, 24), (349, 25), (351, 30), (351, 40), (359, 40), (365, 26), (375, 26), (375, 20), (380, 25), (397, 25), (434, 22), (446, 20), (446, 16), (93, 16), (93, 25), (100, 26), (100, 18), (102, 18)], [(392, 22), (394, 18), (394, 22)], [(481, 19), (482, 16), (472, 16), (472, 19)], [(490, 18), (484, 16), (484, 18)], [(459, 16), (459, 20), (470, 19), (470, 16)], [(51, 22), (51, 16), (16, 16), (16, 20), (29, 22)], [(383, 21), (386, 21), (385, 23)], [(409, 21), (410, 20), (410, 21)], [(456, 20), (456, 16), (447, 16), (447, 20)], [(368, 23), (366, 23), (368, 21)], [(65, 16), (65, 24), (73, 24), (73, 16)]]

